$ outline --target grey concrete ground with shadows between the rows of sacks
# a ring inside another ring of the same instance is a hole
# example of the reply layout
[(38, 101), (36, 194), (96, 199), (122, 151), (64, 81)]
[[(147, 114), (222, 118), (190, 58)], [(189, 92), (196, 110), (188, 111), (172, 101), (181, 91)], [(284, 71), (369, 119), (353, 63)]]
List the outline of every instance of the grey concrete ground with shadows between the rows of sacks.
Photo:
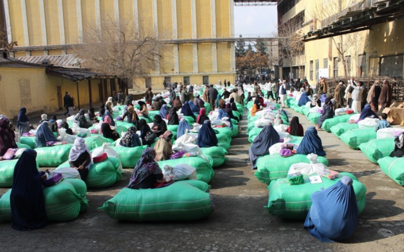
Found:
[[(304, 115), (298, 115), (305, 128)], [(244, 116), (246, 118), (246, 116)], [(402, 251), (404, 244), (404, 189), (388, 178), (361, 151), (351, 150), (331, 133), (319, 132), (330, 168), (355, 174), (367, 187), (366, 207), (358, 227), (344, 243), (324, 243), (312, 237), (302, 221), (270, 215), (266, 184), (248, 166), (246, 121), (233, 139), (229, 162), (215, 170), (211, 193), (215, 212), (192, 222), (129, 223), (116, 221), (97, 207), (112, 198), (129, 180), (131, 169), (113, 187), (89, 190), (89, 208), (78, 219), (49, 223), (29, 232), (0, 224), (2, 251)], [(0, 194), (8, 189), (0, 188)]]

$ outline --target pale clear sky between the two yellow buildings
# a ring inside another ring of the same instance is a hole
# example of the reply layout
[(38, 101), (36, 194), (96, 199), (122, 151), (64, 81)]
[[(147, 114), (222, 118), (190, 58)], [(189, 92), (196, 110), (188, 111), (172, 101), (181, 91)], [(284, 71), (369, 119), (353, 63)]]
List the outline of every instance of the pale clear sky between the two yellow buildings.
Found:
[[(276, 6), (235, 6), (234, 35), (272, 35), (277, 31)], [(245, 37), (245, 36), (244, 36)]]

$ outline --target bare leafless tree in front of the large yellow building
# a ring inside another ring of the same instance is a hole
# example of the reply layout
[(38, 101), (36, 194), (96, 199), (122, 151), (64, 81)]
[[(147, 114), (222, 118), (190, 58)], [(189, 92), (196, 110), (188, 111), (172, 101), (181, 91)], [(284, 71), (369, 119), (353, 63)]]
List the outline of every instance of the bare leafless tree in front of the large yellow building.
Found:
[(102, 22), (89, 24), (83, 36), (78, 54), (82, 66), (95, 72), (117, 75), (131, 88), (136, 78), (147, 78), (159, 67), (162, 58), (162, 41), (154, 35), (153, 27), (144, 27), (138, 21), (138, 30), (133, 19), (115, 21), (105, 16)]

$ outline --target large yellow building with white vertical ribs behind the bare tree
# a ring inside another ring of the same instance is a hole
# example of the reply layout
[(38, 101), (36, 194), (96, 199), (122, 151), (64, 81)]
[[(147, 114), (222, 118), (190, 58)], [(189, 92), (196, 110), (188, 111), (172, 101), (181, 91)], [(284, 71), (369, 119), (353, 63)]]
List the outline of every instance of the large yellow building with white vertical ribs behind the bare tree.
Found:
[[(3, 0), (14, 56), (73, 53), (90, 24), (131, 19), (165, 41), (160, 67), (137, 85), (162, 87), (234, 80), (233, 0)], [(139, 21), (141, 24), (139, 24)], [(226, 40), (227, 38), (227, 40)]]

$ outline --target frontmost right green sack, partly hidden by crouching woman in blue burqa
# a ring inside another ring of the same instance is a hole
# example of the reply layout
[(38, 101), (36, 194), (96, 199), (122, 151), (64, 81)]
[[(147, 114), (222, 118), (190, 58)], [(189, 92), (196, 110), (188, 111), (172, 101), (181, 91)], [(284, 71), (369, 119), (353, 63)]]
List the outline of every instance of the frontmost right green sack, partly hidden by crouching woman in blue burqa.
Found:
[(287, 178), (280, 178), (271, 181), (267, 187), (269, 191), (268, 206), (265, 207), (269, 213), (279, 216), (283, 219), (305, 220), (312, 206), (311, 196), (313, 193), (321, 190), (321, 187), (328, 188), (341, 179), (342, 176), (352, 178), (355, 196), (358, 202), (359, 214), (365, 209), (366, 186), (361, 183), (354, 175), (341, 172), (338, 178), (330, 180), (322, 177), (322, 183), (311, 184), (309, 179), (304, 184), (289, 184)]

